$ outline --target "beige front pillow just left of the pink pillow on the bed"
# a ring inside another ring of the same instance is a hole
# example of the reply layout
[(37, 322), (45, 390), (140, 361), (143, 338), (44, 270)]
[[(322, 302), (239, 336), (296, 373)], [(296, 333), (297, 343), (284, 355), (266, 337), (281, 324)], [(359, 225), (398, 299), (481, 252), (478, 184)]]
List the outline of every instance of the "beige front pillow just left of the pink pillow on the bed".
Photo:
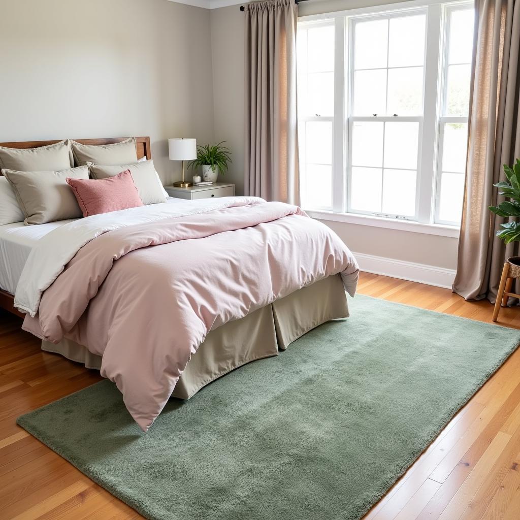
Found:
[(16, 193), (25, 214), (25, 225), (83, 216), (66, 179), (88, 179), (87, 166), (56, 172), (2, 170), (2, 173)]

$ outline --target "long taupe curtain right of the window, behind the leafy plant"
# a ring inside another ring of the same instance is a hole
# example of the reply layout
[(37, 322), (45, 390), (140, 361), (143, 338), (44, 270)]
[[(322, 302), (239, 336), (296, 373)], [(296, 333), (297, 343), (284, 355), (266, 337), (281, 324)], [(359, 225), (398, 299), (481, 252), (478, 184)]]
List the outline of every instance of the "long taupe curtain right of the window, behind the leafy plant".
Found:
[(457, 276), (453, 291), (466, 300), (495, 301), (505, 258), (518, 244), (496, 237), (503, 218), (493, 184), (503, 164), (520, 158), (520, 0), (475, 0), (475, 44), (470, 99), (469, 148)]

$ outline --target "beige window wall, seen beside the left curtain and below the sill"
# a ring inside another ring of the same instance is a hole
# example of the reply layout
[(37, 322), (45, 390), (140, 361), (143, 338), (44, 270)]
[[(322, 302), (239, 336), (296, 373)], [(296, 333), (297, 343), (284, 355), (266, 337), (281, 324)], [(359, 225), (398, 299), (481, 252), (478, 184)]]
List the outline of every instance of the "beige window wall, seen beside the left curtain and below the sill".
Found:
[[(391, 0), (309, 0), (299, 6), (300, 16), (319, 12), (384, 5)], [(243, 190), (243, 99), (244, 99), (244, 23), (238, 6), (211, 11), (213, 53), (213, 103), (215, 139), (227, 140), (234, 164), (226, 178)], [(356, 224), (327, 222), (350, 249), (386, 258), (455, 269), (458, 239), (389, 230)]]

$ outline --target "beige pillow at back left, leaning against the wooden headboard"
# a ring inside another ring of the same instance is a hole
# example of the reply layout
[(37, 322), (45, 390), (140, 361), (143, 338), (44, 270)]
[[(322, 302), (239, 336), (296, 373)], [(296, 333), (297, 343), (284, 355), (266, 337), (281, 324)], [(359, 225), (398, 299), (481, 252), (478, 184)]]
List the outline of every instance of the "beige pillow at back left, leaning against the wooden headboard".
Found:
[(19, 172), (43, 172), (66, 170), (74, 166), (70, 141), (37, 148), (7, 148), (0, 146), (0, 170)]

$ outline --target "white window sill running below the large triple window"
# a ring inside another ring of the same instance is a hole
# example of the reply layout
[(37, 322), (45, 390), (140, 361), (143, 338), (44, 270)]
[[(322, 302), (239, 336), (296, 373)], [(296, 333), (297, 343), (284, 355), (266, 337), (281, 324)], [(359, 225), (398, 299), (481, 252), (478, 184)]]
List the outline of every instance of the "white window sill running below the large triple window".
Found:
[(443, 224), (422, 224), (410, 220), (397, 220), (393, 218), (375, 217), (372, 215), (360, 215), (357, 213), (335, 213), (325, 210), (305, 210), (309, 217), (319, 220), (332, 220), (333, 222), (345, 222), (347, 224), (360, 224), (361, 226), (374, 226), (440, 237), (459, 238), (460, 229), (457, 226), (445, 226)]

